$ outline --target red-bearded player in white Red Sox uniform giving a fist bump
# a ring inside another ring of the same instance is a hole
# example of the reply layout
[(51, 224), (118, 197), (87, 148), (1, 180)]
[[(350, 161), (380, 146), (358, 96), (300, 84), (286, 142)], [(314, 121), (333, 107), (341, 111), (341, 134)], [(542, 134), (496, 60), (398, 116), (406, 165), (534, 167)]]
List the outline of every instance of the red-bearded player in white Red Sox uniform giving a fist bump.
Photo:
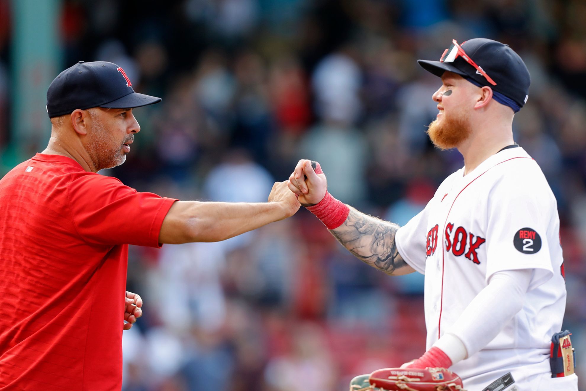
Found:
[(404, 368), (449, 368), (469, 391), (577, 390), (573, 357), (554, 359), (554, 375), (550, 367), (566, 299), (556, 199), (513, 141), (527, 67), (483, 38), (453, 40), (440, 61), (418, 63), (442, 81), (428, 135), (464, 157), (423, 212), (404, 227), (365, 215), (333, 198), (319, 165), (305, 159), (289, 188), (370, 266), (425, 274), (427, 352)]

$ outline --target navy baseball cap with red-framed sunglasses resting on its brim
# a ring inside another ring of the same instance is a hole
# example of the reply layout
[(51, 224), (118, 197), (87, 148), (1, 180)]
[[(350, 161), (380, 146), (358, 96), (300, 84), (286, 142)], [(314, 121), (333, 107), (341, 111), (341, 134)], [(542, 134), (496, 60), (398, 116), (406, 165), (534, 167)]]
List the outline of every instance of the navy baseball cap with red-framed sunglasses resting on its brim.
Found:
[[(458, 46), (465, 53), (462, 53)], [(465, 56), (472, 61), (467, 61)], [(496, 40), (474, 38), (462, 42), (462, 45), (458, 45), (454, 40), (452, 46), (445, 50), (440, 61), (417, 60), (417, 63), (436, 76), (441, 77), (448, 70), (459, 74), (476, 86), (489, 86), (496, 91), (494, 94), (496, 100), (513, 107), (513, 110), (516, 109), (514, 106), (517, 106), (517, 110), (523, 107), (529, 98), (531, 77), (527, 66), (509, 45)], [(472, 64), (477, 64), (480, 69), (476, 69)], [(504, 95), (505, 99), (500, 97), (499, 100), (498, 94)], [(512, 102), (507, 101), (506, 98)]]

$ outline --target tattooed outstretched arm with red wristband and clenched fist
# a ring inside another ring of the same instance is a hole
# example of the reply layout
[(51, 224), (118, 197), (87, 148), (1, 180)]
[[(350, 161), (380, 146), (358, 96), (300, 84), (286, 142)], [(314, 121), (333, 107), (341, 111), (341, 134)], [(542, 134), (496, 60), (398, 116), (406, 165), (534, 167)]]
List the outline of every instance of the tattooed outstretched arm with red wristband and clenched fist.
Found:
[[(298, 196), (301, 205), (315, 213), (338, 242), (358, 259), (393, 276), (415, 271), (398, 253), (395, 234), (399, 226), (344, 206), (334, 199), (326, 191), (326, 177), (318, 164), (312, 166), (311, 161), (300, 160), (289, 177), (288, 186)], [(328, 210), (316, 211), (315, 208), (324, 209), (323, 203), (329, 203)], [(342, 209), (345, 209), (343, 213)], [(340, 216), (339, 220), (337, 216)]]

